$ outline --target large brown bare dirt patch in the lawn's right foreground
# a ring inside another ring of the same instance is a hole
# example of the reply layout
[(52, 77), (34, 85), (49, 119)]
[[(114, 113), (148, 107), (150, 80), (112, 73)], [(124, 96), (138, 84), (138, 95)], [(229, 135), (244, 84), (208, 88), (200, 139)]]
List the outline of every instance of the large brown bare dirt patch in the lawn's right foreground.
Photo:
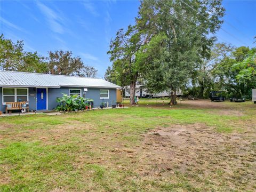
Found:
[(144, 135), (138, 151), (139, 174), (168, 178), (178, 171), (193, 182), (201, 181), (201, 187), (211, 178), (215, 186), (254, 190), (255, 135), (255, 130), (221, 134), (204, 124), (155, 129)]

